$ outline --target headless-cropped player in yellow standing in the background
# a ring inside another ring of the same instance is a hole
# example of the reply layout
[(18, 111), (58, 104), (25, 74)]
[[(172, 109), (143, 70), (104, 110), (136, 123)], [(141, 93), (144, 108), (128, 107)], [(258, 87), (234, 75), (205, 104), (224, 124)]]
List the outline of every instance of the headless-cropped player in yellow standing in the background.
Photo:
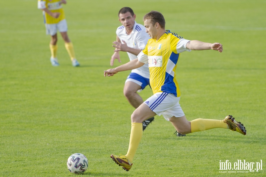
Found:
[(65, 41), (65, 48), (70, 56), (73, 66), (80, 66), (75, 57), (74, 47), (67, 35), (67, 21), (65, 19), (62, 4), (67, 4), (66, 0), (38, 0), (38, 9), (43, 11), (46, 34), (51, 35), (50, 50), (51, 64), (59, 66), (57, 54), (57, 30), (61, 33)]

